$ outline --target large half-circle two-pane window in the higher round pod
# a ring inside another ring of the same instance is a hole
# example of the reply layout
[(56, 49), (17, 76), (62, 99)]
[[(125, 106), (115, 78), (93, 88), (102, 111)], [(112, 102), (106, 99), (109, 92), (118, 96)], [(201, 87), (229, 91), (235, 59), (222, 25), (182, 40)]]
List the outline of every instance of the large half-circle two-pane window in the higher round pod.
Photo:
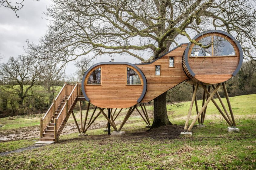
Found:
[(207, 36), (200, 40), (208, 48), (202, 48), (194, 45), (191, 50), (191, 57), (198, 56), (235, 56), (235, 50), (232, 44), (225, 38), (220, 36)]

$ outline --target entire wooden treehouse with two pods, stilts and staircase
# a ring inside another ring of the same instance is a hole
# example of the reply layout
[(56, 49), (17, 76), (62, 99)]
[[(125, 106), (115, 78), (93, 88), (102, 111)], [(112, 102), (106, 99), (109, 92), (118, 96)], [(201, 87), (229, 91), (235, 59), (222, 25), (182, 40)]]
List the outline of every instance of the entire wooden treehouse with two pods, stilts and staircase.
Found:
[[(151, 63), (103, 62), (91, 66), (85, 72), (81, 84), (63, 86), (41, 119), (40, 141), (57, 142), (71, 114), (81, 134), (86, 133), (100, 114), (107, 119), (108, 130), (111, 126), (119, 133), (135, 109), (150, 126), (145, 103), (184, 81), (193, 85), (194, 91), (184, 134), (190, 132), (196, 121), (199, 125), (203, 125), (210, 101), (214, 103), (231, 129), (237, 129), (224, 82), (236, 75), (241, 68), (243, 62), (241, 46), (233, 36), (220, 30), (202, 32), (194, 37), (194, 40), (207, 48), (194, 43), (183, 43)], [(229, 112), (218, 94), (218, 88), (221, 85), (225, 92)], [(204, 90), (201, 108), (198, 107), (196, 100), (199, 87)], [(215, 102), (213, 98), (215, 94), (224, 112)], [(88, 101), (87, 108), (93, 104), (95, 109), (90, 118), (87, 109), (83, 123), (80, 107), (81, 128), (79, 128), (73, 108), (77, 101), (80, 101), (81, 106), (82, 100)], [(197, 115), (189, 126), (194, 103)], [(117, 108), (120, 110), (117, 111)], [(121, 125), (117, 127), (115, 119), (123, 108), (129, 109)], [(97, 109), (98, 113), (95, 114)], [(105, 113), (105, 109), (108, 114)]]

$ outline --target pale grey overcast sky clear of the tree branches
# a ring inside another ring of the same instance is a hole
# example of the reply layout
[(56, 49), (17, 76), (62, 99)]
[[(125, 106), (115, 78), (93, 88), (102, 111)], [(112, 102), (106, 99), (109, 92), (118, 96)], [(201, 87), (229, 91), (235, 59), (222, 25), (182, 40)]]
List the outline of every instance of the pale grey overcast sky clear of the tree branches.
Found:
[[(38, 43), (38, 39), (46, 33), (47, 20), (43, 19), (46, 7), (51, 5), (51, 0), (24, 1), (24, 7), (15, 13), (8, 9), (0, 8), (0, 56), (3, 57), (1, 62), (7, 62), (9, 56), (17, 57), (24, 54), (26, 47), (25, 40)], [(115, 55), (115, 61), (126, 61), (130, 63), (139, 63), (134, 57), (125, 57)], [(93, 61), (94, 63), (109, 61), (110, 57), (101, 57)], [(66, 74), (75, 72), (73, 63), (68, 63), (65, 70)]]

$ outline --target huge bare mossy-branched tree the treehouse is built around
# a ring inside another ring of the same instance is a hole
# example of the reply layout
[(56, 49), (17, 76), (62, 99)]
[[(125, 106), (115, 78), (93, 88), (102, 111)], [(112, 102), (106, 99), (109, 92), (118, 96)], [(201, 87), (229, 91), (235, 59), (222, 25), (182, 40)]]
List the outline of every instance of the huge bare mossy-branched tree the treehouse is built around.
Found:
[[(52, 63), (87, 56), (125, 55), (141, 62), (156, 59), (182, 36), (221, 29), (241, 42), (246, 59), (255, 59), (255, 0), (53, 0), (45, 13), (52, 21), (40, 45), (28, 53)], [(205, 47), (204, 47), (205, 48)], [(145, 54), (149, 54), (145, 56)], [(145, 61), (145, 59), (148, 59)], [(152, 127), (170, 124), (166, 93), (154, 100)]]

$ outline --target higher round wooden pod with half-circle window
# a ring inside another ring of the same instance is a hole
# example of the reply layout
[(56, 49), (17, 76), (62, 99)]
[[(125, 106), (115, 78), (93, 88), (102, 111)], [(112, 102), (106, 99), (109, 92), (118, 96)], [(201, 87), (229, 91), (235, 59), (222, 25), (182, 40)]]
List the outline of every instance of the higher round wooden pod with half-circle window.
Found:
[(193, 38), (182, 57), (182, 66), (190, 84), (221, 83), (236, 75), (243, 63), (239, 42), (221, 30), (204, 31)]

